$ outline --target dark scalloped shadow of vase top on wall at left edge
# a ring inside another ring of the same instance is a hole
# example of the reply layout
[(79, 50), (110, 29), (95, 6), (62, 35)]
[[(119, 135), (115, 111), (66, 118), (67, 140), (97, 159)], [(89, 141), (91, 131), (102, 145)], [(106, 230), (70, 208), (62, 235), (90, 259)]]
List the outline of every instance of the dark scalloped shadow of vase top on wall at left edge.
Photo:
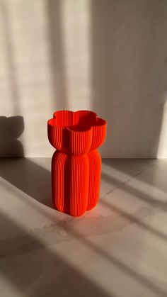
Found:
[(0, 117), (0, 156), (23, 157), (23, 145), (18, 140), (24, 130), (23, 116)]

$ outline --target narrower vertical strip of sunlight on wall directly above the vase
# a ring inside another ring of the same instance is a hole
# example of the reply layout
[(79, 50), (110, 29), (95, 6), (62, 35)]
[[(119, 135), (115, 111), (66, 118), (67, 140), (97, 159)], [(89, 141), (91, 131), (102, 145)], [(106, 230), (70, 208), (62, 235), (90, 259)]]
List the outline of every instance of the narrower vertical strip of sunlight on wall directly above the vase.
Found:
[(89, 0), (62, 0), (67, 108), (91, 108)]

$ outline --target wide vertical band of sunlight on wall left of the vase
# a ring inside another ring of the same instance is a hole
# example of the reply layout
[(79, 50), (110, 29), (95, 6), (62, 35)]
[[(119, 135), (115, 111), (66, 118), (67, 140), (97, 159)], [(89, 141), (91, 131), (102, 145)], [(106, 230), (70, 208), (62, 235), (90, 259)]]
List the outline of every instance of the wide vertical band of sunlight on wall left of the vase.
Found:
[[(50, 47), (47, 40), (45, 1), (6, 1), (8, 55), (16, 91), (11, 103), (18, 106), (16, 115), (24, 119), (25, 156), (50, 155), (47, 120), (52, 116)], [(14, 108), (14, 107), (13, 107)], [(16, 109), (16, 108), (15, 108)]]

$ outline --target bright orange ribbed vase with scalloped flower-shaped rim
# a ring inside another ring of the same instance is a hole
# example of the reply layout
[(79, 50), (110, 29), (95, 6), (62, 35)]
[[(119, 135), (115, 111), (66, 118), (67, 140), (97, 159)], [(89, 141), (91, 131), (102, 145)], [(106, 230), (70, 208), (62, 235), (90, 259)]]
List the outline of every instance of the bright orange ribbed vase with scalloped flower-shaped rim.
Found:
[(47, 122), (52, 157), (52, 201), (58, 211), (83, 215), (98, 203), (107, 123), (93, 111), (56, 111)]

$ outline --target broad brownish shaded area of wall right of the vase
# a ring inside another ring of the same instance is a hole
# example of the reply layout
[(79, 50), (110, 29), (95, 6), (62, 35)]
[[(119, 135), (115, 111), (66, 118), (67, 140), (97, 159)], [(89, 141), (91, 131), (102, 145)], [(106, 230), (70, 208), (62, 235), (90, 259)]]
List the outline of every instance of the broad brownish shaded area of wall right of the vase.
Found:
[(93, 109), (106, 157), (156, 157), (166, 89), (165, 1), (91, 1)]

